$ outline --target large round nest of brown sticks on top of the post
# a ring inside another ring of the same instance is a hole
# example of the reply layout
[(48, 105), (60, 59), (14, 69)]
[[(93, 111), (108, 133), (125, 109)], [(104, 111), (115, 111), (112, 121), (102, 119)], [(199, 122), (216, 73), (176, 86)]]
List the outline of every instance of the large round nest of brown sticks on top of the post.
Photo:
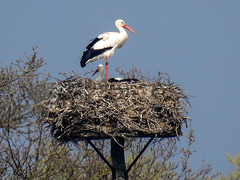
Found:
[(189, 119), (187, 96), (173, 83), (102, 83), (72, 77), (54, 85), (47, 122), (62, 141), (176, 137)]

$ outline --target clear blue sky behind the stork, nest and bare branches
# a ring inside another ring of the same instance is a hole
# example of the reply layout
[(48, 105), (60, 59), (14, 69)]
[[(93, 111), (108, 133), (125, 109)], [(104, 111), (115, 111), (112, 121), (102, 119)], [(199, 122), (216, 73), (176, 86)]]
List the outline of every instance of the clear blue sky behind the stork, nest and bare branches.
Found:
[[(109, 60), (109, 76), (116, 67), (132, 64), (153, 77), (166, 72), (190, 98), (196, 142), (191, 166), (206, 159), (213, 171), (232, 170), (226, 153), (240, 151), (240, 1), (0, 1), (0, 65), (38, 53), (45, 69), (83, 74), (79, 59), (89, 41), (116, 31), (116, 19), (128, 32), (123, 48)], [(184, 138), (184, 137), (183, 137)]]

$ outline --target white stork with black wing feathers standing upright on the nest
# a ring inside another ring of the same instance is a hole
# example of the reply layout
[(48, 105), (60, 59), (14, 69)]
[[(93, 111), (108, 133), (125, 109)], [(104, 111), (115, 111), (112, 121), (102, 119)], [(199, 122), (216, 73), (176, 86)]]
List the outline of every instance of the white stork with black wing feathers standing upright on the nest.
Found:
[(106, 82), (108, 82), (108, 59), (114, 54), (116, 48), (121, 48), (126, 42), (128, 35), (124, 28), (135, 33), (121, 19), (116, 20), (115, 26), (119, 32), (106, 32), (92, 40), (83, 52), (80, 64), (85, 67), (87, 63), (97, 59), (106, 58)]

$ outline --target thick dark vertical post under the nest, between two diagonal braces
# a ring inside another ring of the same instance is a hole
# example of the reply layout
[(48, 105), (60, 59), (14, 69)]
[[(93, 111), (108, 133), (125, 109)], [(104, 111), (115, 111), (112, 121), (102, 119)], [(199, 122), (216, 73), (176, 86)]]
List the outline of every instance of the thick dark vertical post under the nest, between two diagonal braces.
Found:
[(116, 137), (115, 139), (111, 139), (111, 157), (113, 166), (112, 180), (127, 180), (124, 138)]

